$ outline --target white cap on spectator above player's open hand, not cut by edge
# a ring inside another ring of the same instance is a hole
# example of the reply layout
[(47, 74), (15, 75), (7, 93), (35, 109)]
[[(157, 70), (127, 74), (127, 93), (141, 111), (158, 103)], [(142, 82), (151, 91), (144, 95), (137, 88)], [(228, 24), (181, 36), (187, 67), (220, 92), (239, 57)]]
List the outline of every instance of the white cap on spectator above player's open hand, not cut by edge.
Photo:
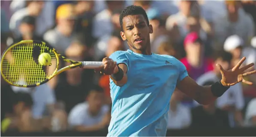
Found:
[(234, 50), (239, 46), (243, 46), (244, 41), (238, 35), (231, 35), (229, 36), (226, 41), (224, 42), (224, 50), (229, 52), (230, 50)]

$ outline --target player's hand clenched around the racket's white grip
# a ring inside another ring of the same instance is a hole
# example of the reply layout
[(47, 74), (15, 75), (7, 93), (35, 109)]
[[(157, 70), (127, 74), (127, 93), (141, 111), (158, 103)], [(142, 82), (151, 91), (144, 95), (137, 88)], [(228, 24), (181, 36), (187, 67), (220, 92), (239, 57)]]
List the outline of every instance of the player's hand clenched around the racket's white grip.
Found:
[(100, 71), (105, 75), (111, 75), (118, 72), (116, 61), (113, 61), (111, 58), (105, 57), (103, 58), (102, 62), (103, 66), (99, 69), (96, 69), (96, 71)]

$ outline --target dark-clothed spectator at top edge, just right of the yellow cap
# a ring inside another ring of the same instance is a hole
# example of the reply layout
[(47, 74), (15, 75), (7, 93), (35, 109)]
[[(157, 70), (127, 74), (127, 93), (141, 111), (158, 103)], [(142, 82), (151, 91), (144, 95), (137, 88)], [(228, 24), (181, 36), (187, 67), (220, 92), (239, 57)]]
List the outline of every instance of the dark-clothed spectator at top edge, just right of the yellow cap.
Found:
[(90, 47), (92, 45), (93, 37), (93, 12), (94, 1), (93, 0), (77, 0), (75, 4), (75, 15), (78, 17), (76, 20), (75, 31), (84, 34), (86, 45)]

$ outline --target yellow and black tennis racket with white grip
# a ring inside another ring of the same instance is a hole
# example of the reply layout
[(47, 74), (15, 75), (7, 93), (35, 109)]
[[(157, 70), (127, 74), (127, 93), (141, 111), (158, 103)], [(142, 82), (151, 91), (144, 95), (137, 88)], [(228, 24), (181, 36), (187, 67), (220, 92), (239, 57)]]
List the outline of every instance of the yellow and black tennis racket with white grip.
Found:
[[(48, 65), (39, 63), (42, 53), (51, 55)], [(60, 59), (70, 63), (59, 68)], [(16, 87), (36, 87), (48, 82), (54, 76), (73, 68), (95, 69), (103, 65), (98, 61), (72, 61), (60, 55), (54, 48), (42, 41), (26, 40), (9, 46), (1, 57), (3, 79)]]

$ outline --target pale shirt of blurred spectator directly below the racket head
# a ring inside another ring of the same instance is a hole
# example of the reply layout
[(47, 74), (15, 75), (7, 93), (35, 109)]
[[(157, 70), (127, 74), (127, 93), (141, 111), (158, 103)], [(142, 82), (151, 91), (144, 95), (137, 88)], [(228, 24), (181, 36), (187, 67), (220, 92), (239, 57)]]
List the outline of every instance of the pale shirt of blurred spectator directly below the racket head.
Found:
[(32, 113), (33, 118), (40, 119), (44, 116), (47, 105), (53, 105), (56, 102), (54, 90), (47, 84), (43, 84), (34, 88), (11, 87), (14, 92), (27, 92), (31, 94), (33, 99)]

